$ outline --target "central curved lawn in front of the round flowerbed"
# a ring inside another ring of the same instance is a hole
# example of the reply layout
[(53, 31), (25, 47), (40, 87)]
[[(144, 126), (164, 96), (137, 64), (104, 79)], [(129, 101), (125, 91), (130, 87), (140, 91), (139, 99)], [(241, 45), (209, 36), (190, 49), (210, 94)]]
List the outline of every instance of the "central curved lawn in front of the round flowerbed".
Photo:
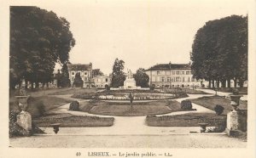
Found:
[(80, 110), (104, 116), (148, 116), (179, 111), (180, 103), (173, 100), (135, 102), (131, 110), (129, 102), (90, 101), (80, 104)]

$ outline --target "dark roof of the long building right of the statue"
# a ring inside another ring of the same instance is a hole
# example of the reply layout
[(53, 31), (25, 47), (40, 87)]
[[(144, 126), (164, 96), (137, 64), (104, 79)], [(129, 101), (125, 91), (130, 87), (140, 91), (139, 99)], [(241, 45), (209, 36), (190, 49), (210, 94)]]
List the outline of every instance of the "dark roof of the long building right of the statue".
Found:
[(157, 64), (150, 67), (147, 71), (165, 71), (165, 70), (186, 70), (191, 69), (190, 64)]

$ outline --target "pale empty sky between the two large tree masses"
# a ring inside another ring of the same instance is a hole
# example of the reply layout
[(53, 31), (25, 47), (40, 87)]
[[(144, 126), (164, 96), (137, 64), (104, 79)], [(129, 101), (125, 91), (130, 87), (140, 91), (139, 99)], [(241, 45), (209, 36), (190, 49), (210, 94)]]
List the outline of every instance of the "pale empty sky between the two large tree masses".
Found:
[(246, 15), (243, 1), (75, 1), (41, 3), (70, 22), (76, 45), (73, 64), (112, 72), (114, 59), (125, 71), (156, 64), (189, 63), (196, 31), (208, 20)]

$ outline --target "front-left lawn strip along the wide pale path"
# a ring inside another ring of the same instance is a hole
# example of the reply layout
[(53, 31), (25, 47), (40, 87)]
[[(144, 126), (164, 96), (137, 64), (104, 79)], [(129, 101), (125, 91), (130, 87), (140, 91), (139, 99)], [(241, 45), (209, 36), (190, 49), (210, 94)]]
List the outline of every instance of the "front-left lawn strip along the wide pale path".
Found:
[(38, 127), (51, 127), (50, 124), (52, 123), (61, 123), (60, 127), (111, 127), (113, 120), (113, 117), (59, 114), (40, 117), (32, 122)]

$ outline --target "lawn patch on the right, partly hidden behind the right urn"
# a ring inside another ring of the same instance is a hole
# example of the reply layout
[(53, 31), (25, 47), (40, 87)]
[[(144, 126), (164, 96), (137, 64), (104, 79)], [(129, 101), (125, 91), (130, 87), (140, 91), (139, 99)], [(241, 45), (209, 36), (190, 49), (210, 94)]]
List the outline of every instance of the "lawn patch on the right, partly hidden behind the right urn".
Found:
[[(200, 104), (208, 109), (214, 110), (216, 104), (220, 104), (224, 107), (223, 114), (226, 115), (230, 110), (233, 110), (233, 107), (230, 105), (230, 99), (226, 99), (222, 96), (210, 96), (210, 97), (201, 97), (199, 99), (190, 99), (191, 102), (195, 104)], [(241, 110), (247, 110), (247, 101), (240, 100), (240, 105), (238, 106)]]

